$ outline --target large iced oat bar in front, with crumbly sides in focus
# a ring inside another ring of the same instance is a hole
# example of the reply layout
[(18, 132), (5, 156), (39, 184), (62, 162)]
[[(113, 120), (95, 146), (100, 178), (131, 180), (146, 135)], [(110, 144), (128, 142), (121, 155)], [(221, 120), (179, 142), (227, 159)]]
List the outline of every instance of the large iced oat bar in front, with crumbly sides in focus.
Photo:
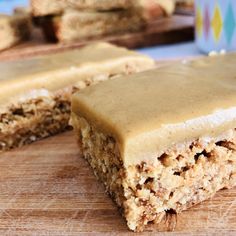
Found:
[(131, 230), (236, 185), (235, 61), (177, 63), (73, 95), (83, 156)]

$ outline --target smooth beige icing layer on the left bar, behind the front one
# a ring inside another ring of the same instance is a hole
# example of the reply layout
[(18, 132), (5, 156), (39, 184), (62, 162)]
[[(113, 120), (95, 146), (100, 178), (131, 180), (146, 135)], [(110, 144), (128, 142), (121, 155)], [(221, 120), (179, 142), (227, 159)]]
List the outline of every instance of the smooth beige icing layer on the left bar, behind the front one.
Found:
[(98, 74), (115, 75), (126, 66), (139, 70), (154, 66), (146, 56), (107, 43), (82, 49), (0, 63), (0, 108), (31, 90), (55, 91)]

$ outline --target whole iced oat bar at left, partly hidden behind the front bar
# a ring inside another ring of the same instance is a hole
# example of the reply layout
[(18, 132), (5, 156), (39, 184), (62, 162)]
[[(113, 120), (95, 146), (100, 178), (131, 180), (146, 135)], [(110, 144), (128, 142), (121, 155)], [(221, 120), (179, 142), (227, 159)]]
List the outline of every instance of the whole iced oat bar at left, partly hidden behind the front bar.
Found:
[(106, 43), (0, 63), (0, 151), (67, 129), (74, 91), (154, 65)]

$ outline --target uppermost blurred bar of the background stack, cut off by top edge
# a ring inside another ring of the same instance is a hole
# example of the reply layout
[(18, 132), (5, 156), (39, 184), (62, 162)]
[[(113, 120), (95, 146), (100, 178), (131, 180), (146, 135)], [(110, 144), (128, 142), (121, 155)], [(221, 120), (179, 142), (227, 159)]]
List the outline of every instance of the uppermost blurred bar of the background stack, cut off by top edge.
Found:
[(65, 9), (113, 10), (130, 8), (134, 0), (31, 0), (34, 16), (58, 15)]

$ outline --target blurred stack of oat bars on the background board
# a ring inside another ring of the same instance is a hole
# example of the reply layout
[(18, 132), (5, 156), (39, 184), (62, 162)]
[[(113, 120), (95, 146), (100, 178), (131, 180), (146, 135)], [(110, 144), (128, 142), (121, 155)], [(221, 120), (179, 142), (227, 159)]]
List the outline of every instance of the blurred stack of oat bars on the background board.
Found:
[(139, 31), (152, 17), (170, 15), (173, 0), (31, 0), (50, 40), (63, 43)]

